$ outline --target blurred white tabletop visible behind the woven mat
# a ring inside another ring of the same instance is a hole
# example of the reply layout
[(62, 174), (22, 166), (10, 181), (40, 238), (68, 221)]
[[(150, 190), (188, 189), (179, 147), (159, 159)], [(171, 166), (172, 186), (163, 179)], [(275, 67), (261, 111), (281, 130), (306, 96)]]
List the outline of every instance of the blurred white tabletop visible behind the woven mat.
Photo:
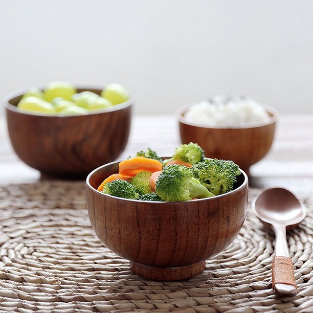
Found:
[[(172, 115), (133, 117), (129, 143), (120, 159), (150, 146), (169, 156), (179, 145), (178, 123)], [(35, 182), (40, 173), (15, 155), (0, 119), (0, 183)], [(284, 187), (299, 197), (313, 195), (313, 114), (281, 115), (268, 155), (250, 168), (249, 185), (254, 188)]]

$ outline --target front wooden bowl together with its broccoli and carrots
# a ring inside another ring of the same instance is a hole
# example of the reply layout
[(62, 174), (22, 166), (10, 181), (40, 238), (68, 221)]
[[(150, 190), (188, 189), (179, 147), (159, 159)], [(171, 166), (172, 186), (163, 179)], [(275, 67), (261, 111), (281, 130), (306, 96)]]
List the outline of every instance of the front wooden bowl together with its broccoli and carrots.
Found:
[(229, 246), (247, 208), (248, 179), (232, 161), (204, 158), (198, 144), (170, 158), (148, 148), (93, 170), (86, 180), (90, 223), (102, 243), (152, 280), (200, 274)]

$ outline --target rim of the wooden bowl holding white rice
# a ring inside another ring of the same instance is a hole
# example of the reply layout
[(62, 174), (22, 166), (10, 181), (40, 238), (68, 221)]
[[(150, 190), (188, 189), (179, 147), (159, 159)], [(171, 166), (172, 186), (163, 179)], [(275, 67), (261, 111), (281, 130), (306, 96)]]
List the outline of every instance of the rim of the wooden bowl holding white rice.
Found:
[(186, 117), (184, 117), (184, 113), (187, 112), (187, 110), (192, 107), (197, 103), (192, 103), (192, 104), (188, 104), (185, 105), (183, 107), (180, 107), (176, 112), (175, 112), (175, 116), (176, 119), (179, 121), (179, 123), (185, 124), (185, 125), (190, 125), (190, 126), (194, 126), (194, 127), (201, 127), (201, 128), (207, 128), (207, 129), (247, 129), (247, 128), (257, 128), (257, 127), (263, 127), (263, 126), (267, 126), (273, 123), (276, 123), (278, 120), (278, 111), (268, 105), (265, 104), (260, 104), (265, 110), (266, 112), (272, 114), (272, 116), (269, 116), (269, 118), (265, 121), (259, 121), (259, 122), (251, 122), (251, 123), (245, 123), (245, 124), (241, 124), (238, 126), (234, 126), (234, 125), (225, 125), (225, 124), (219, 124), (219, 125), (210, 125), (208, 123), (205, 122), (197, 122), (197, 121), (193, 121), (190, 119), (187, 119)]

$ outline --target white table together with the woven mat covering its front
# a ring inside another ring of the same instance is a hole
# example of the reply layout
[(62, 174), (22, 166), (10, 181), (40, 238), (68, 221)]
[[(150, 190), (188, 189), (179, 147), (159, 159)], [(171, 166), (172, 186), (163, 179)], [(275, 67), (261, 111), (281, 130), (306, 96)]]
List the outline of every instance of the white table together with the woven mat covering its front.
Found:
[[(169, 156), (178, 145), (173, 116), (134, 116), (120, 159), (148, 146)], [(288, 188), (310, 207), (305, 221), (288, 236), (298, 286), (292, 298), (273, 295), (274, 238), (249, 210), (234, 243), (207, 260), (202, 274), (182, 282), (151, 282), (134, 275), (127, 260), (97, 240), (87, 217), (83, 181), (36, 183), (40, 179), (45, 180), (14, 154), (5, 121), (0, 120), (0, 312), (2, 305), (5, 312), (40, 313), (80, 312), (79, 308), (312, 312), (312, 114), (280, 116), (272, 149), (251, 167), (249, 178), (250, 187)], [(249, 203), (258, 192), (249, 190)]]

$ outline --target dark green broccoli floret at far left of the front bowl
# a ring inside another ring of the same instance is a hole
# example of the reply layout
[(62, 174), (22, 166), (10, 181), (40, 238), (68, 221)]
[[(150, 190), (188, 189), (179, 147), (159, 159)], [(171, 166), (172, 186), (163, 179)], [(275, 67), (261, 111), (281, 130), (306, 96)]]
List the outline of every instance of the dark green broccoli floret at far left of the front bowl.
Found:
[(116, 179), (107, 182), (102, 192), (107, 195), (126, 198), (126, 199), (138, 199), (139, 194), (136, 192), (135, 187), (124, 179)]

